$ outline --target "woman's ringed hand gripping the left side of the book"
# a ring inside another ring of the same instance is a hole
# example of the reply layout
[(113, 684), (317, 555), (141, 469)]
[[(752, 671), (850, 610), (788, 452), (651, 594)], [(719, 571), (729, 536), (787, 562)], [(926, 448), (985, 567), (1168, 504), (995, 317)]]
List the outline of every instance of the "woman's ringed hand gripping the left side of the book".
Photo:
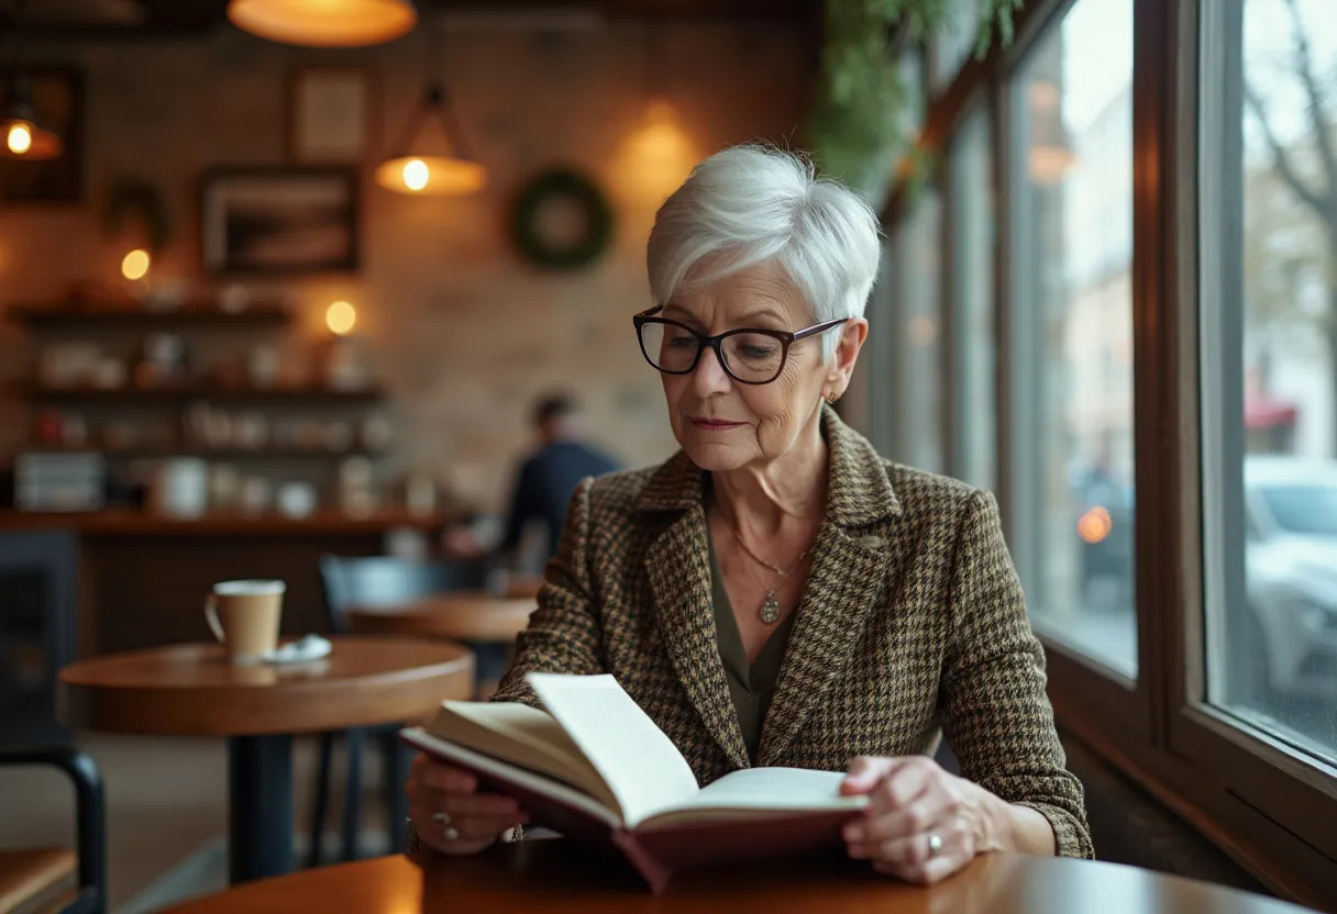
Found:
[(427, 755), (413, 759), (408, 796), (418, 841), (441, 854), (476, 854), (529, 820), (509, 796), (479, 791), (472, 774)]

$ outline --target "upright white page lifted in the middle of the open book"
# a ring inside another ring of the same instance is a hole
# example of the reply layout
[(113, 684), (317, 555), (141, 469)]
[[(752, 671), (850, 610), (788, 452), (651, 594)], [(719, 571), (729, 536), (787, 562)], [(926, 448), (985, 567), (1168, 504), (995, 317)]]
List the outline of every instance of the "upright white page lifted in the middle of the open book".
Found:
[(697, 794), (687, 760), (616, 679), (537, 672), (525, 679), (599, 770), (627, 827)]

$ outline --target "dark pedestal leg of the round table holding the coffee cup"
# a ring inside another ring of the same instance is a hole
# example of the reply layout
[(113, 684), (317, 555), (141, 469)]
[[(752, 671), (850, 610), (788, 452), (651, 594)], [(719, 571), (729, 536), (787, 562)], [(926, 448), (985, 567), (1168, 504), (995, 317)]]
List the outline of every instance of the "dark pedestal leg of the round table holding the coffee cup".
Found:
[(293, 738), (227, 740), (227, 867), (233, 885), (293, 869)]

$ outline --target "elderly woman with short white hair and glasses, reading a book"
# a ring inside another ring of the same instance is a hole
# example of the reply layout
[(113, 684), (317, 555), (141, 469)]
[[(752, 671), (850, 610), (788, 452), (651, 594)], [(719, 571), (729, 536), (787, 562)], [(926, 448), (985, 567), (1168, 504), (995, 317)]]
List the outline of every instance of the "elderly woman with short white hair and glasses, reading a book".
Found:
[[(848, 771), (849, 854), (933, 882), (987, 851), (1091, 855), (997, 508), (878, 456), (830, 409), (868, 335), (873, 212), (802, 159), (702, 162), (650, 235), (635, 317), (682, 449), (584, 480), (493, 696), (529, 671), (612, 673), (706, 784)], [(940, 734), (963, 776), (932, 760)], [(418, 758), (418, 839), (479, 851), (515, 800)]]

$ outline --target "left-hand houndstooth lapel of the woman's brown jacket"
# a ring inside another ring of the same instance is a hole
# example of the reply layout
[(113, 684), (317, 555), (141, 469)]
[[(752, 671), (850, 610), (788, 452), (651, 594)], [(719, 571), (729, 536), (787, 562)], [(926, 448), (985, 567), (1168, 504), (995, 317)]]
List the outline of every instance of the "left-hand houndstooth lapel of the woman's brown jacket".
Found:
[(646, 572), (659, 631), (679, 683), (730, 763), (746, 768), (747, 747), (719, 659), (701, 496), (701, 470), (683, 454), (651, 477), (639, 506), (682, 513), (650, 545)]

